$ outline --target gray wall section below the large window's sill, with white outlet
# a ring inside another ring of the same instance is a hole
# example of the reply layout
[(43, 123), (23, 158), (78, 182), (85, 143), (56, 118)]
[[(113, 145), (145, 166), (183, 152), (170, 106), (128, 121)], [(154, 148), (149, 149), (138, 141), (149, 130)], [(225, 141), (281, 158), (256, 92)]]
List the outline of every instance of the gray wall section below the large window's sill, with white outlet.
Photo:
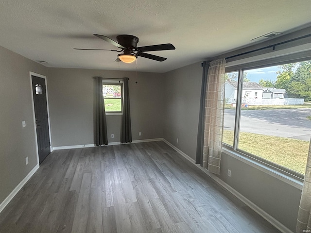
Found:
[[(228, 169), (231, 177), (227, 176)], [(293, 232), (296, 231), (301, 190), (225, 153), (222, 154), (220, 179)]]

